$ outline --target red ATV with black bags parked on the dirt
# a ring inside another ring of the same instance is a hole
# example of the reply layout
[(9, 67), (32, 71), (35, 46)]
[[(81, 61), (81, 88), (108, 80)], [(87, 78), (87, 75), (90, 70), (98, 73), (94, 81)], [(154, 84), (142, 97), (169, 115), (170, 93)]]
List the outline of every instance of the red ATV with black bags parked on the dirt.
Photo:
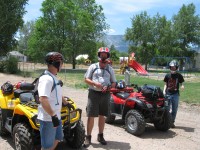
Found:
[[(137, 91), (134, 91), (134, 88)], [(136, 136), (145, 131), (146, 123), (153, 123), (155, 128), (167, 131), (171, 127), (171, 114), (167, 110), (168, 100), (162, 90), (153, 85), (138, 87), (118, 86), (111, 88), (110, 113), (106, 123), (112, 124), (116, 116), (125, 121), (126, 130)]]

